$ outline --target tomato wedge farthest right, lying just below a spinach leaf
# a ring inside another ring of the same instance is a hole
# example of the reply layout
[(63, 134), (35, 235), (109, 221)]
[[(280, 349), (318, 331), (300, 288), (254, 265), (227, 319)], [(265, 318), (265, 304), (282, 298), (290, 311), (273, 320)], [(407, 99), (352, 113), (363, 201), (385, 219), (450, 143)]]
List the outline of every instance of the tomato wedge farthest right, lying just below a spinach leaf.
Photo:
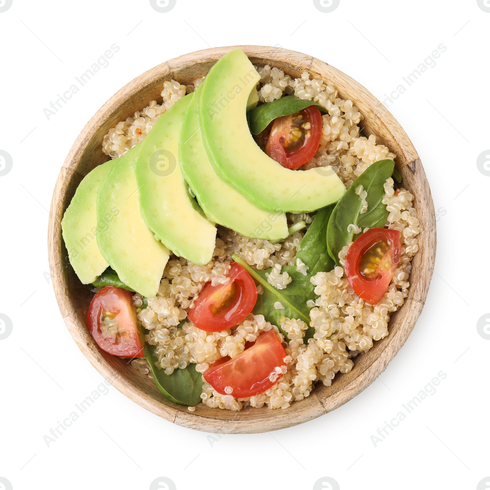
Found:
[(400, 232), (371, 228), (349, 248), (345, 275), (355, 293), (371, 304), (385, 294), (400, 261)]

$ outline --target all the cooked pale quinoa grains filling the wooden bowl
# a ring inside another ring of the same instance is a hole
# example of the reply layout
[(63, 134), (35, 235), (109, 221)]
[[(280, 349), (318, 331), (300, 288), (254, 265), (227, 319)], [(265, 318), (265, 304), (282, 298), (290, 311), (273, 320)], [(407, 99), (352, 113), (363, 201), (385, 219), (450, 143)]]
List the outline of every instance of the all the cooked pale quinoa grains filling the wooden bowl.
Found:
[[(337, 89), (321, 79), (310, 78), (307, 72), (298, 78), (291, 78), (278, 68), (256, 66), (261, 76), (257, 86), (261, 102), (270, 102), (285, 94), (313, 100), (323, 105), (328, 114), (322, 116), (322, 136), (318, 151), (302, 170), (331, 166), (341, 178), (346, 188), (363, 173), (369, 165), (383, 159), (394, 159), (396, 155), (384, 145), (376, 144), (376, 137), (361, 136), (359, 124), (364, 117), (351, 100), (338, 97)], [(102, 149), (111, 158), (123, 155), (128, 149), (143, 141), (158, 118), (172, 105), (194, 92), (203, 77), (191, 85), (181, 85), (175, 80), (164, 82), (161, 93), (162, 103), (155, 100), (133, 117), (118, 123), (104, 136)], [(267, 140), (267, 131), (256, 138), (259, 145)], [(280, 243), (246, 238), (239, 233), (218, 226), (213, 260), (198, 266), (186, 259), (172, 256), (167, 264), (158, 294), (147, 298), (147, 308), (141, 309), (142, 296), (135, 294), (133, 304), (138, 308), (138, 319), (148, 330), (146, 341), (155, 345), (155, 364), (171, 374), (176, 368), (196, 364), (198, 372), (205, 372), (210, 364), (221, 357), (236, 357), (244, 351), (246, 342), (254, 342), (260, 333), (273, 330), (283, 343), (286, 366), (277, 367), (271, 373), (271, 381), (276, 383), (266, 392), (249, 398), (235, 398), (231, 387), (226, 394), (216, 392), (203, 378), (202, 403), (210, 408), (241, 410), (244, 407), (263, 407), (271, 409), (288, 408), (293, 401), (309, 396), (315, 383), (330, 386), (338, 372), (349, 372), (354, 366), (353, 358), (367, 352), (373, 342), (388, 335), (390, 314), (396, 311), (408, 295), (411, 260), (417, 253), (417, 235), (420, 231), (417, 211), (413, 206), (414, 196), (407, 190), (393, 189), (389, 178), (385, 185), (383, 204), (389, 212), (386, 226), (398, 230), (402, 238), (400, 262), (392, 277), (388, 290), (376, 305), (361, 299), (343, 277), (343, 269), (335, 267), (331, 271), (318, 272), (311, 278), (315, 286), (315, 300), (309, 299), (310, 326), (315, 334), (308, 343), (303, 342), (309, 325), (299, 319), (281, 317), (280, 327), (288, 334), (289, 343), (278, 325), (267, 322), (262, 315), (250, 314), (239, 325), (221, 332), (204, 332), (196, 328), (187, 318), (189, 309), (204, 284), (226, 284), (230, 270), (230, 256), (237, 253), (245, 262), (257, 270), (272, 269), (268, 282), (278, 289), (287, 287), (291, 277), (281, 272), (283, 266), (295, 266), (305, 274), (307, 267), (301, 260), (294, 263), (298, 246), (304, 232), (296, 232)], [(361, 213), (367, 210), (367, 192), (358, 186), (356, 194), (362, 199)], [(288, 226), (304, 221), (308, 227), (314, 215), (307, 213), (288, 213)], [(349, 228), (354, 233), (361, 230), (354, 224)], [(350, 231), (350, 230), (349, 230)], [(344, 265), (345, 256), (351, 244), (339, 253), (340, 263)], [(263, 294), (262, 286), (257, 293)], [(284, 309), (277, 301), (275, 309)], [(131, 365), (143, 375), (151, 377), (145, 359), (134, 359)], [(189, 407), (192, 410), (193, 407)]]

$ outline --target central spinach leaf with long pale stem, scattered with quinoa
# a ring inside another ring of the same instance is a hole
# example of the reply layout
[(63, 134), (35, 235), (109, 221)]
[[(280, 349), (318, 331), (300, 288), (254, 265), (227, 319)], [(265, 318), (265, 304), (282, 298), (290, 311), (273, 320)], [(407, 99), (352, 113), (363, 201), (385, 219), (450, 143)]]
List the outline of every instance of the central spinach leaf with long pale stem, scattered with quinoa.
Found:
[[(326, 246), (327, 225), (330, 215), (335, 205), (330, 205), (321, 209), (315, 220), (312, 222), (306, 232), (301, 244), (298, 247), (296, 256), (294, 257), (293, 266), (285, 266), (281, 269), (286, 271), (292, 281), (285, 289), (278, 290), (267, 281), (266, 273), (269, 270), (255, 270), (249, 267), (238, 256), (233, 256), (233, 260), (240, 261), (240, 264), (249, 272), (249, 274), (264, 288), (264, 293), (259, 294), (255, 303), (254, 313), (256, 315), (264, 315), (266, 321), (270, 321), (273, 325), (277, 325), (281, 329), (281, 317), (295, 318), (303, 320), (307, 325), (310, 323), (310, 310), (307, 305), (309, 299), (316, 299), (315, 286), (310, 282), (312, 276), (319, 271), (332, 270), (335, 266), (332, 259), (328, 256)], [(309, 268), (306, 276), (296, 270), (296, 260), (301, 261)], [(280, 301), (284, 309), (276, 310), (274, 303)], [(282, 331), (286, 338), (286, 332)], [(308, 327), (304, 342), (313, 337), (315, 329)]]

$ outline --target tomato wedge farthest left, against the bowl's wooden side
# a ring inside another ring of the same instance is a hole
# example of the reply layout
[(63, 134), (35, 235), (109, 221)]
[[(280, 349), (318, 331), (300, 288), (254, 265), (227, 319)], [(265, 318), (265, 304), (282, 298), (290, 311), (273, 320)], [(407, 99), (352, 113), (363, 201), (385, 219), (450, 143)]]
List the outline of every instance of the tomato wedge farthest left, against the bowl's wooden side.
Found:
[(145, 341), (129, 291), (114, 286), (102, 288), (90, 303), (87, 325), (97, 345), (105, 352), (143, 357)]

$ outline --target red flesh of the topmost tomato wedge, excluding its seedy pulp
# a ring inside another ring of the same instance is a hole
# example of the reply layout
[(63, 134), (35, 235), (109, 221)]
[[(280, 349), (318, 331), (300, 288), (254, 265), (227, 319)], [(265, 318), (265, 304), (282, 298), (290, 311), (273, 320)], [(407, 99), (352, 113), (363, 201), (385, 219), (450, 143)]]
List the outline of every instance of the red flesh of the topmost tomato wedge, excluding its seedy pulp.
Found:
[(293, 128), (294, 114), (291, 114), (290, 116), (274, 119), (265, 148), (265, 152), (270, 158), (291, 170), (298, 169), (312, 158), (317, 152), (321, 140), (322, 125), (320, 111), (314, 105), (311, 105), (299, 111), (299, 113), (311, 125), (311, 129), (309, 130), (310, 136), (303, 145), (293, 151), (289, 151), (285, 146), (285, 142), (290, 138)]

